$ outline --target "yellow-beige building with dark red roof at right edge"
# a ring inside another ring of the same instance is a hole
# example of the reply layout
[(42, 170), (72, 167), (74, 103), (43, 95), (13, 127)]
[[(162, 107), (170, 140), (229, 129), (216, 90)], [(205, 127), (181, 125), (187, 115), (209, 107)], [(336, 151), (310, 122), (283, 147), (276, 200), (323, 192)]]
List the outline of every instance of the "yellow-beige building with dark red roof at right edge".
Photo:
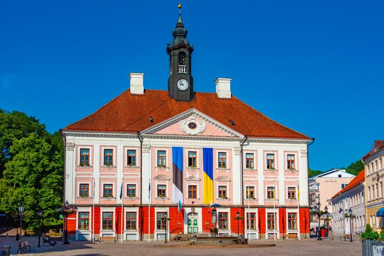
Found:
[[(361, 158), (366, 171), (367, 223), (373, 229), (384, 227), (383, 190), (384, 181), (384, 140), (375, 140), (372, 150)], [(378, 211), (381, 211), (378, 213)], [(377, 216), (378, 215), (378, 216)]]

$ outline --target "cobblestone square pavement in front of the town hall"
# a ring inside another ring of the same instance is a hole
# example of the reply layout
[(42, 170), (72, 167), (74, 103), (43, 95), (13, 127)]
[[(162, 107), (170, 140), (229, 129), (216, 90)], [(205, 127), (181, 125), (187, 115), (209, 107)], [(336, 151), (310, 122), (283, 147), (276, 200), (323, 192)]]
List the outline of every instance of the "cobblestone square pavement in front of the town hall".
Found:
[[(37, 238), (25, 238), (23, 241), (35, 246), (34, 251), (28, 252), (29, 255), (361, 255), (361, 243), (358, 238), (351, 243), (340, 241), (339, 234), (334, 235), (334, 240), (324, 238), (317, 241), (317, 238), (295, 240), (252, 240), (249, 245), (236, 245), (236, 247), (220, 246), (183, 246), (180, 242), (137, 241), (120, 243), (113, 242), (85, 242), (70, 241), (69, 245), (64, 245), (58, 241), (55, 246), (36, 247)], [(260, 245), (275, 245), (270, 247), (257, 247)], [(0, 238), (0, 245), (11, 246), (11, 254), (16, 254), (18, 242), (14, 237), (5, 240)], [(23, 253), (24, 254), (24, 253)]]

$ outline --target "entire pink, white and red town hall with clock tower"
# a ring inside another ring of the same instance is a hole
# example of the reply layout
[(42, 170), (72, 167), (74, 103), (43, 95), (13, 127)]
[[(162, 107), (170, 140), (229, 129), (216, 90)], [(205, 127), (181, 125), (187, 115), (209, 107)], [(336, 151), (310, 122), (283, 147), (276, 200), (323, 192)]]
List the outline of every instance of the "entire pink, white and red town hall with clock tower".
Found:
[(180, 15), (167, 91), (144, 90), (144, 74), (131, 73), (130, 89), (61, 131), (64, 198), (78, 207), (70, 238), (158, 240), (213, 226), (219, 235), (309, 237), (313, 140), (232, 96), (231, 79), (217, 78), (216, 93), (194, 92), (186, 35)]

